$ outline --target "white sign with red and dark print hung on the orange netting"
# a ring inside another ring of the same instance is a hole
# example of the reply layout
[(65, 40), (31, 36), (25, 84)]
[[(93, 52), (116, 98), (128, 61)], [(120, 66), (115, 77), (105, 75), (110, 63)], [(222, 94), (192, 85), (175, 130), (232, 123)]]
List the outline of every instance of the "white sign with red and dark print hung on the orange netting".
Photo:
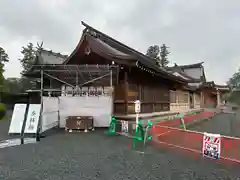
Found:
[(205, 157), (220, 159), (221, 135), (204, 133), (202, 153)]

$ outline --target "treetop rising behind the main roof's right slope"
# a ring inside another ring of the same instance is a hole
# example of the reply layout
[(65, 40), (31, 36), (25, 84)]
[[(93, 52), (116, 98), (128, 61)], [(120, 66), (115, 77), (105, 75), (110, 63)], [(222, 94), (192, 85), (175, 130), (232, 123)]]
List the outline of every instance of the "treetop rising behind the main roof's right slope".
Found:
[(156, 64), (161, 67), (166, 67), (169, 63), (167, 56), (170, 54), (168, 47), (163, 44), (161, 47), (158, 45), (150, 46), (147, 49), (146, 55), (155, 59)]

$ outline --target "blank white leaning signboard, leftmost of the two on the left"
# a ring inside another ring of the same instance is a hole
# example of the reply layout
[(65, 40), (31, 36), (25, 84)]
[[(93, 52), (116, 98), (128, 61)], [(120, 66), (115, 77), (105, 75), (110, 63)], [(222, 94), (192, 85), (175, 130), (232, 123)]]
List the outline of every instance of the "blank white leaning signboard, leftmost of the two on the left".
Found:
[(8, 130), (9, 134), (20, 134), (26, 112), (26, 104), (15, 104), (11, 119), (11, 124)]

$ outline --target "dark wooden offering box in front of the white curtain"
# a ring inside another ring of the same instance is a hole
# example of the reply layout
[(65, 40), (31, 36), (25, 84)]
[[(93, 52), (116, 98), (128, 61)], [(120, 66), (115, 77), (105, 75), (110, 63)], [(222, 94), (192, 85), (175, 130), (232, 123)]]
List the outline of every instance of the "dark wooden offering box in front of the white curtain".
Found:
[(66, 120), (67, 130), (93, 130), (92, 116), (68, 116)]

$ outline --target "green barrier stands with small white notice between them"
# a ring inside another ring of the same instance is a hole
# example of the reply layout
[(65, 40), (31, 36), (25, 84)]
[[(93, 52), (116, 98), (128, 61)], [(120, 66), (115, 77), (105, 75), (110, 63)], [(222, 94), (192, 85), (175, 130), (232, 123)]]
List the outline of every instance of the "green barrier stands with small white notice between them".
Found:
[(107, 134), (130, 137), (133, 139), (132, 147), (136, 148), (138, 142), (145, 145), (148, 141), (152, 140), (151, 128), (151, 121), (147, 123), (139, 121), (136, 124), (133, 121), (117, 120), (115, 116), (112, 116)]

